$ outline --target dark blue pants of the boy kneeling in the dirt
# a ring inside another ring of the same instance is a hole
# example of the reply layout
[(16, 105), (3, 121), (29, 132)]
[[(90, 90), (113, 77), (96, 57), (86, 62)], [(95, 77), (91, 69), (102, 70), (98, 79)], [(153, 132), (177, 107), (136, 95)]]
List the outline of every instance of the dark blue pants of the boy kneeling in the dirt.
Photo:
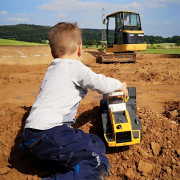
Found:
[(103, 180), (108, 177), (110, 166), (105, 146), (96, 135), (63, 125), (45, 131), (25, 129), (23, 139), (24, 145), (39, 159), (66, 168), (66, 173), (46, 180)]

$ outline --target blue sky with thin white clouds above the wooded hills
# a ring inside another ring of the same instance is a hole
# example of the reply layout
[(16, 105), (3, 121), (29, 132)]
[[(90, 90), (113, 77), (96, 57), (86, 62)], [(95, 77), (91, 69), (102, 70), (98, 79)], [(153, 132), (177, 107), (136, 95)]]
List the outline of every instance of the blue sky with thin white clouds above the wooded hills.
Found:
[(0, 25), (77, 22), (80, 28), (102, 29), (103, 8), (105, 16), (139, 13), (145, 35), (180, 36), (180, 0), (0, 0)]

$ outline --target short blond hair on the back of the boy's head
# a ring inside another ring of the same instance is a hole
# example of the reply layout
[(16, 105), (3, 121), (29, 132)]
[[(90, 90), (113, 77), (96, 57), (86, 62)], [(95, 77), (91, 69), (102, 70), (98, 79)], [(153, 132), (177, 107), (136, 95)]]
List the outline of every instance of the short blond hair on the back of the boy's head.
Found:
[(76, 52), (82, 43), (82, 32), (77, 23), (61, 22), (50, 29), (48, 39), (53, 57), (59, 58)]

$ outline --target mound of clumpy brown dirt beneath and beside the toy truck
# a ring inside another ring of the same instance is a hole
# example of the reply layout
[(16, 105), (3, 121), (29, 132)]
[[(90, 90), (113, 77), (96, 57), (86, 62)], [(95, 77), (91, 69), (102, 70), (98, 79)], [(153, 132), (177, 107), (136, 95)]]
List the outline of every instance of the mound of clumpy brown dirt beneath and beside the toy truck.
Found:
[[(80, 106), (77, 124), (83, 131), (99, 135), (99, 107), (87, 104), (86, 111)], [(108, 148), (107, 157), (114, 179), (174, 179), (180, 178), (180, 126), (162, 114), (138, 109), (137, 115), (143, 127), (140, 144)], [(90, 129), (90, 130), (89, 130)]]

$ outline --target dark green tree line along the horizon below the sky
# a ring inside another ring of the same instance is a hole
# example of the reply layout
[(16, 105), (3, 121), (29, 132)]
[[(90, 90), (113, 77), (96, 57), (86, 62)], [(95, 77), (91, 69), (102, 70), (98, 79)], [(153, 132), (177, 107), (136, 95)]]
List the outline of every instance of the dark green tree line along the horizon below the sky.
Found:
[[(18, 24), (0, 26), (1, 39), (13, 39), (26, 42), (47, 43), (48, 32), (51, 26), (40, 26), (33, 24)], [(101, 29), (82, 29), (83, 45), (101, 44)], [(176, 43), (180, 44), (180, 36), (163, 38), (162, 36), (147, 36), (148, 44)]]

